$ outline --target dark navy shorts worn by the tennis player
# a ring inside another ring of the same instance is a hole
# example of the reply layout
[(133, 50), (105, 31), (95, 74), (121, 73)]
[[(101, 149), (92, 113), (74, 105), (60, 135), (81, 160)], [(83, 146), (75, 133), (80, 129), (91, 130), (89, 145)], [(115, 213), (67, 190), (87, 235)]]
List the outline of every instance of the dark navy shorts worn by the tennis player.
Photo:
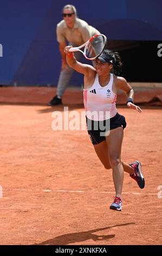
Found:
[(103, 121), (93, 121), (86, 117), (86, 122), (90, 140), (94, 145), (106, 140), (106, 131), (116, 129), (118, 127), (125, 129), (127, 125), (124, 115), (120, 115), (119, 113), (117, 113), (115, 117)]

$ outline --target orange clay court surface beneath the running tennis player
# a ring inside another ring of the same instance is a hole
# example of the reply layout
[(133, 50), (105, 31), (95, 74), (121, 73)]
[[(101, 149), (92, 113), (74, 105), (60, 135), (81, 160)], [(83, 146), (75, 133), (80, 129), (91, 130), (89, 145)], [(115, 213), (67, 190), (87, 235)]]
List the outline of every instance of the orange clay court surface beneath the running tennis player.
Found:
[(141, 106), (140, 114), (118, 106), (127, 121), (122, 159), (141, 161), (146, 186), (140, 190), (125, 174), (124, 208), (117, 212), (109, 210), (112, 170), (103, 168), (87, 131), (51, 129), (51, 114), (63, 106), (9, 101), (0, 105), (1, 245), (162, 243), (160, 107)]

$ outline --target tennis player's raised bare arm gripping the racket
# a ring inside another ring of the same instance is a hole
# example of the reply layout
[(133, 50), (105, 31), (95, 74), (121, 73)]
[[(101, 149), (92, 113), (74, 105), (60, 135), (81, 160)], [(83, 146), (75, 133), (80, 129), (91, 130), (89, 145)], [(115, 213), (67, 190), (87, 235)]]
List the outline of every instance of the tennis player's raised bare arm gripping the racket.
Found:
[(77, 62), (76, 58), (74, 57), (73, 52), (69, 52), (69, 49), (72, 48), (73, 46), (66, 46), (64, 48), (64, 52), (66, 53), (66, 61), (67, 64), (77, 72), (85, 75), (85, 76), (90, 76), (94, 74), (95, 69), (93, 66), (88, 65), (88, 64), (82, 64), (80, 62)]

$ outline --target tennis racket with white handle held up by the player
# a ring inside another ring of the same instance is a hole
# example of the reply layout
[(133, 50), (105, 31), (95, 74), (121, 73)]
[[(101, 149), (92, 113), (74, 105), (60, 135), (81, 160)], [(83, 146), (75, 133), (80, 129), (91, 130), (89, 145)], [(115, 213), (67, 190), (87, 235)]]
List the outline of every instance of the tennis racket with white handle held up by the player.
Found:
[[(98, 58), (101, 53), (103, 52), (105, 46), (107, 44), (107, 38), (105, 35), (98, 34), (92, 36), (85, 44), (79, 46), (79, 47), (72, 47), (69, 49), (69, 52), (77, 52), (80, 51), (86, 59), (96, 59)], [(81, 48), (84, 48), (84, 50), (80, 50)]]

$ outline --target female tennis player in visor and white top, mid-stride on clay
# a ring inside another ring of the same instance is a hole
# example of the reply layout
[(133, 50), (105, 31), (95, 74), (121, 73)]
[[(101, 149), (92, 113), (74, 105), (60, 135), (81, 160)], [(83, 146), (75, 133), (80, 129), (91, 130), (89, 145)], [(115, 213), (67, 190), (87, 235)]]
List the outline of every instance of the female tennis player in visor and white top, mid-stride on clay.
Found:
[[(140, 188), (144, 188), (145, 180), (139, 161), (127, 164), (121, 160), (121, 147), (126, 121), (125, 117), (116, 110), (115, 101), (118, 89), (127, 94), (127, 107), (139, 113), (142, 111), (133, 102), (134, 92), (132, 87), (129, 86), (125, 78), (118, 76), (122, 65), (119, 53), (104, 50), (101, 56), (96, 59), (96, 65), (93, 68), (91, 65), (77, 62), (73, 52), (69, 52), (71, 47), (65, 47), (64, 52), (68, 65), (84, 75), (83, 96), (89, 137), (103, 166), (106, 169), (113, 169), (116, 194), (110, 209), (121, 211), (124, 171), (137, 181)], [(104, 136), (103, 127), (106, 131)]]

